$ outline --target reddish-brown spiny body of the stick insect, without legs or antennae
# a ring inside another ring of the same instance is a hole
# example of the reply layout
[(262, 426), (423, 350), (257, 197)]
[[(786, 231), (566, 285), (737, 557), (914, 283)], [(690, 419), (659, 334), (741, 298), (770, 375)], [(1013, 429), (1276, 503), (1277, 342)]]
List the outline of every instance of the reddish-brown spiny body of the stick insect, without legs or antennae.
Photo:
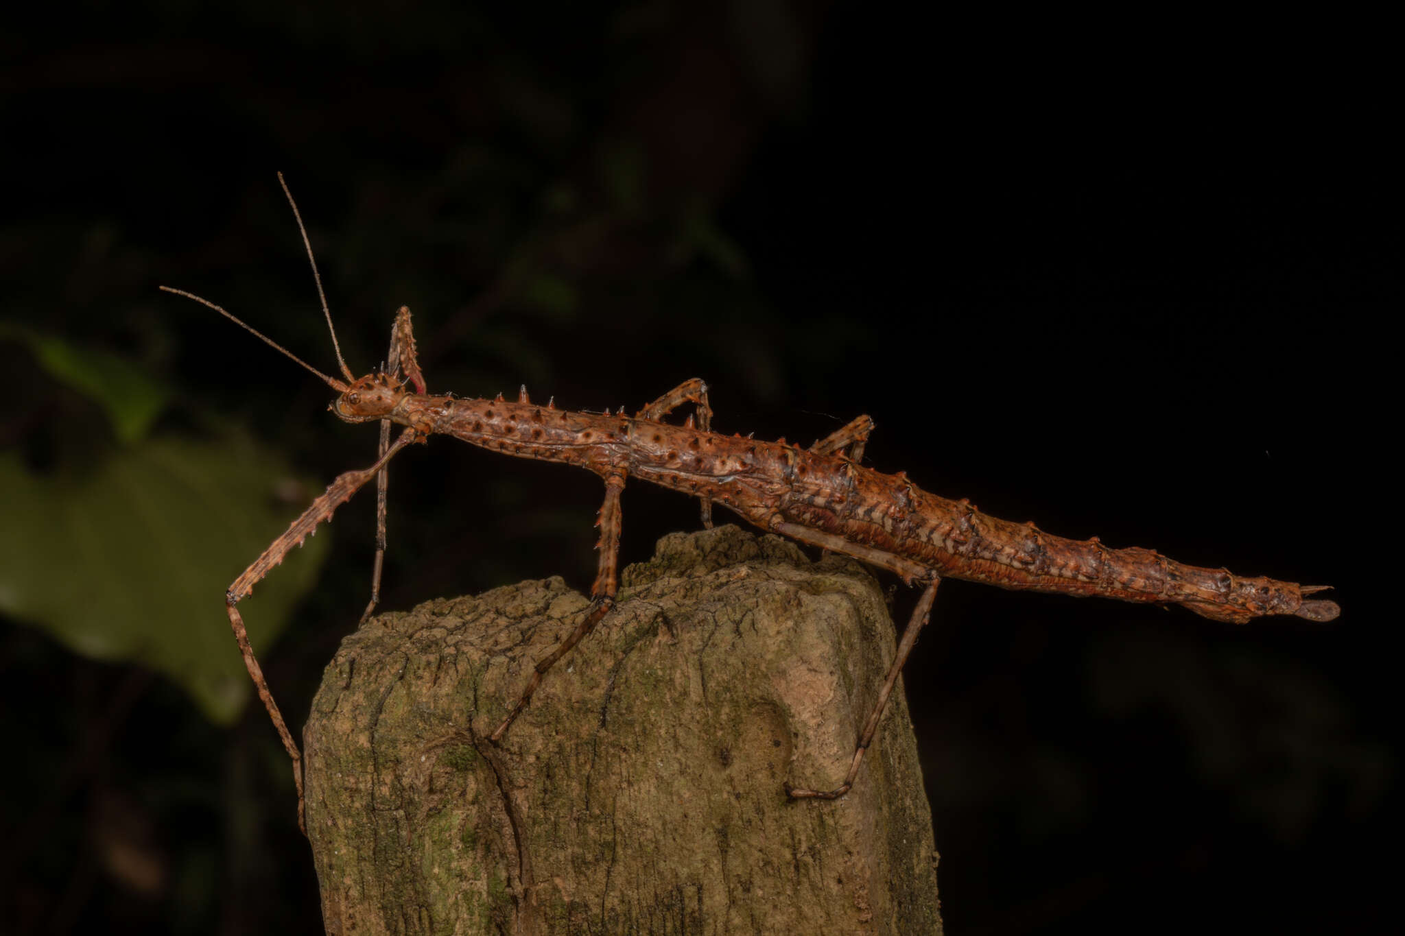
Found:
[[(334, 406), (348, 421), (379, 420), (423, 435), (445, 434), (518, 457), (562, 462), (601, 477), (624, 470), (731, 508), (766, 530), (794, 523), (846, 544), (909, 560), (937, 575), (1065, 595), (1184, 605), (1217, 620), (1263, 615), (1331, 620), (1329, 601), (1307, 601), (1294, 582), (1246, 578), (1173, 561), (1146, 549), (1110, 549), (982, 514), (965, 500), (923, 491), (843, 455), (781, 442), (704, 432), (628, 415), (570, 413), (531, 403), (422, 396), (377, 382), (357, 406)], [(867, 550), (836, 550), (867, 559)], [(908, 578), (930, 575), (908, 573)]]

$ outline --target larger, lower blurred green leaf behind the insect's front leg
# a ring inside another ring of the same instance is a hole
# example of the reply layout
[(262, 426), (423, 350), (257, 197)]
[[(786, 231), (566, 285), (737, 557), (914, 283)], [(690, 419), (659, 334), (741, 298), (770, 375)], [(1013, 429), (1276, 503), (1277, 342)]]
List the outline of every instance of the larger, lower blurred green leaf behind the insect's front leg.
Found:
[[(142, 662), (229, 724), (251, 683), (225, 615), (225, 589), (311, 504), (280, 501), (280, 460), (243, 439), (153, 438), (81, 477), (39, 477), (0, 452), (0, 609), (96, 660)], [(326, 537), (240, 605), (257, 651), (316, 581)]]

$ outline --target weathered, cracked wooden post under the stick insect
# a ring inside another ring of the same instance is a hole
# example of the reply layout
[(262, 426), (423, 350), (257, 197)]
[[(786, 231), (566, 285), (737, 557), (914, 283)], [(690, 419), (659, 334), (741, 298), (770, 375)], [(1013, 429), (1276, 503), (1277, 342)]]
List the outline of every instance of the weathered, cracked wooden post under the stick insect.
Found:
[(669, 535), (489, 744), (587, 605), (528, 581), (343, 641), (303, 734), (327, 933), (941, 932), (901, 690), (847, 797), (783, 790), (842, 779), (892, 660), (863, 567)]

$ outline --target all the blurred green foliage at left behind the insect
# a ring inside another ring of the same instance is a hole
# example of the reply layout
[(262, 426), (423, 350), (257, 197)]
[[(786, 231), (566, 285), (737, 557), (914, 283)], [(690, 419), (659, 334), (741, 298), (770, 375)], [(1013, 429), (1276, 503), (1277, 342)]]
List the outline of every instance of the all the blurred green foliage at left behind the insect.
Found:
[[(91, 403), (111, 435), (81, 413), (51, 414), (59, 425), (34, 428), (70, 442), (83, 436), (80, 450), (60, 445), (37, 457), (32, 445), (0, 449), (8, 504), (0, 612), (93, 660), (163, 672), (208, 718), (230, 724), (251, 685), (216, 626), (221, 598), (287, 529), (312, 486), (239, 432), (150, 435), (171, 392), (129, 356), (0, 323), (0, 341), (7, 338), (58, 387)], [(259, 613), (246, 622), (256, 653), (285, 627), (325, 556), (326, 537), (313, 540), (260, 585)]]

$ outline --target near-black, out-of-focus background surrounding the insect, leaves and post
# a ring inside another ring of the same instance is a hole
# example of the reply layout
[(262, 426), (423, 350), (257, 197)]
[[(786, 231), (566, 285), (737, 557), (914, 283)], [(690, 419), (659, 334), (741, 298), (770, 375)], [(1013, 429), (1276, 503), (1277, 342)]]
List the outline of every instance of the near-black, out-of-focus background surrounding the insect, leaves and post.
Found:
[[(951, 582), (906, 690), (953, 933), (1385, 929), (1395, 665), (1367, 574), (1398, 561), (1395, 500), (1359, 427), (1398, 424), (1373, 354), (1399, 310), (1398, 109), (1371, 24), (799, 0), (45, 15), (3, 39), (3, 314), (178, 387), (162, 431), (218, 413), (323, 481), (372, 459), (326, 387), (155, 292), (333, 370), (282, 170), (358, 372), (406, 303), (431, 390), (634, 410), (702, 376), (726, 432), (809, 443), (868, 413), (871, 466), (991, 514), (1329, 582), (1338, 623), (1243, 627)], [(21, 375), (6, 445), (98, 425)], [(584, 473), (434, 439), (392, 472), (382, 608), (586, 587), (599, 501)], [(292, 723), (365, 602), (372, 502), (339, 514), (266, 655)], [(641, 484), (624, 516), (625, 561), (697, 525)], [(318, 930), (257, 704), (215, 728), (163, 678), (8, 619), (0, 665), (0, 930)]]

